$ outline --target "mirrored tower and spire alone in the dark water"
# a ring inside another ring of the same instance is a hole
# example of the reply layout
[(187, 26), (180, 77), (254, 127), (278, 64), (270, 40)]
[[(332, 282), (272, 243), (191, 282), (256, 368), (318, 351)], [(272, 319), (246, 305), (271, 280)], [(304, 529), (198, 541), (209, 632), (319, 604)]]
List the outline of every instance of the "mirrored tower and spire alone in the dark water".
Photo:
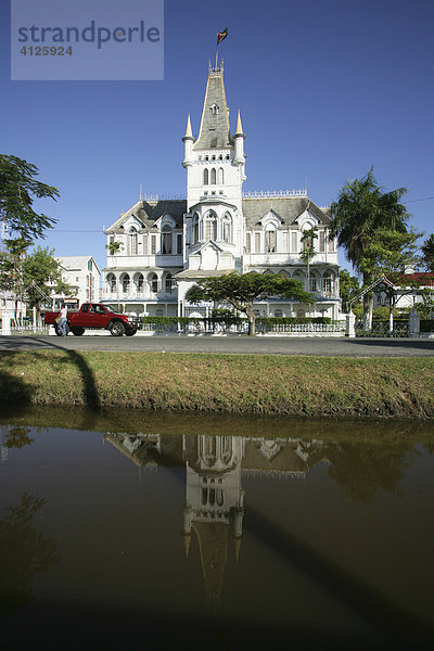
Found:
[(191, 533), (195, 532), (208, 598), (219, 601), (228, 540), (234, 538), (240, 551), (243, 496), (241, 462), (244, 455), (241, 436), (184, 436), (183, 458), (187, 465), (187, 492), (183, 507), (183, 534), (189, 552)]

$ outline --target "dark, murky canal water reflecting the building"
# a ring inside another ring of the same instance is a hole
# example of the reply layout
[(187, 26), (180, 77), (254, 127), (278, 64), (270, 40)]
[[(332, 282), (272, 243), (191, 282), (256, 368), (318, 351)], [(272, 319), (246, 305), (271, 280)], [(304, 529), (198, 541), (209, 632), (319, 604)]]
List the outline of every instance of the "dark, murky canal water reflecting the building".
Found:
[(1, 649), (432, 648), (432, 425), (0, 423)]

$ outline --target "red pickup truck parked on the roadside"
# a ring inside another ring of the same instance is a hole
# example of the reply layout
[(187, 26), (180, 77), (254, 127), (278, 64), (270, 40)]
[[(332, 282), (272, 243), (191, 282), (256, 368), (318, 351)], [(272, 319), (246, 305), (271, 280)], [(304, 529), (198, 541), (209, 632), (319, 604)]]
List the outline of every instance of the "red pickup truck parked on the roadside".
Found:
[[(44, 321), (48, 326), (53, 326), (55, 334), (60, 336), (61, 332), (56, 323), (59, 316), (59, 311), (47, 311)], [(84, 303), (78, 311), (68, 310), (66, 334), (71, 331), (76, 336), (80, 336), (88, 329), (105, 329), (113, 336), (122, 336), (123, 334), (132, 336), (138, 331), (139, 326), (140, 319), (138, 317), (115, 312), (107, 305), (101, 305), (100, 303)]]

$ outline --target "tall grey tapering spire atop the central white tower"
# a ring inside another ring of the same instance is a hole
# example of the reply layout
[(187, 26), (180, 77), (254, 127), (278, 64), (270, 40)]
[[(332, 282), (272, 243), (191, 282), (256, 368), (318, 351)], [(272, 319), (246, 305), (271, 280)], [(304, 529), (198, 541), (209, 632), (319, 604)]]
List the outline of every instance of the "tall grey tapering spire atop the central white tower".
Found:
[(206, 84), (205, 100), (202, 110), (199, 138), (193, 144), (194, 150), (225, 149), (232, 146), (233, 141), (229, 129), (229, 111), (226, 103), (224, 72), (220, 68), (209, 68)]

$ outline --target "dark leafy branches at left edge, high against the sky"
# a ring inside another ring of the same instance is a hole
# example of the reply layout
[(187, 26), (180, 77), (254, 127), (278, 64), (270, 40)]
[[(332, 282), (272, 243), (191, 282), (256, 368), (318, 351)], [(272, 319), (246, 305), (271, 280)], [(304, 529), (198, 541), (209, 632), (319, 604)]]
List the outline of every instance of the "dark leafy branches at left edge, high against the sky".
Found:
[(0, 215), (14, 238), (33, 242), (53, 228), (55, 219), (34, 209), (35, 199), (53, 199), (59, 190), (38, 181), (39, 169), (12, 155), (0, 154)]

